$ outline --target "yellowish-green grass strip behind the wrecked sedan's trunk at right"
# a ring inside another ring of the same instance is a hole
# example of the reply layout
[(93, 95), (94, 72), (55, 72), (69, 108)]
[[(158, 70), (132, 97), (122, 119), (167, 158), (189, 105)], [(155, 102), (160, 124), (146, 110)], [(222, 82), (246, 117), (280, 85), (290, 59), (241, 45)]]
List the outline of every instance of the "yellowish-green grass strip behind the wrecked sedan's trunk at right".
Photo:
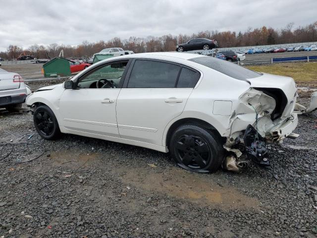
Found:
[(273, 63), (246, 67), (258, 72), (289, 76), (296, 82), (317, 83), (317, 62)]

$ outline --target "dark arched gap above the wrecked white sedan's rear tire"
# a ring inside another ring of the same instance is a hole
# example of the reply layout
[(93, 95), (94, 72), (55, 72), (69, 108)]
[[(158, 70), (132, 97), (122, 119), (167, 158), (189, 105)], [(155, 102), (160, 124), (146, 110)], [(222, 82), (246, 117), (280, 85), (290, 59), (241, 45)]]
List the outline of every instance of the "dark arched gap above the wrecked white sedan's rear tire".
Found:
[(168, 129), (167, 132), (167, 136), (166, 136), (166, 146), (169, 145), (169, 140), (172, 136), (172, 133), (180, 126), (183, 124), (188, 124), (188, 123), (192, 123), (192, 124), (196, 124), (199, 125), (201, 127), (204, 127), (205, 129), (211, 130), (213, 131), (219, 138), (222, 138), (221, 135), (219, 134), (219, 132), (217, 131), (216, 128), (214, 128), (213, 125), (211, 125), (210, 123), (206, 122), (205, 120), (201, 120), (201, 119), (197, 119), (197, 118), (184, 118), (184, 119), (180, 119), (175, 121)]

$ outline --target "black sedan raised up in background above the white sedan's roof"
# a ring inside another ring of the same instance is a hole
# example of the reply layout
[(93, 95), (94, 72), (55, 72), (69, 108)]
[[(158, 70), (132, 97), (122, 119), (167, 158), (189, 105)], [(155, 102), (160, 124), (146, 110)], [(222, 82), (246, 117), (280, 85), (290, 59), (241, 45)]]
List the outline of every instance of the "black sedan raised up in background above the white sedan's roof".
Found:
[(176, 51), (195, 51), (195, 50), (211, 50), (218, 47), (217, 40), (209, 40), (205, 38), (192, 39), (185, 44), (179, 44), (176, 46)]

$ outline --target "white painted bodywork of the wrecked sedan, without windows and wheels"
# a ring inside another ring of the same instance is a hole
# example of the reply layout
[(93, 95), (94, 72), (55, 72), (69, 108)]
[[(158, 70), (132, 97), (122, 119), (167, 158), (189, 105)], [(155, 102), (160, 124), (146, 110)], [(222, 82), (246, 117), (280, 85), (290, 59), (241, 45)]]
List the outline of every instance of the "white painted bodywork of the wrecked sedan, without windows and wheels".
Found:
[[(50, 107), (63, 133), (101, 138), (162, 152), (168, 152), (166, 138), (170, 127), (181, 119), (200, 119), (211, 124), (222, 137), (227, 138), (227, 146), (235, 144), (249, 124), (255, 125), (255, 109), (261, 120), (259, 132), (267, 140), (279, 141), (294, 130), (298, 122), (297, 114), (293, 112), (297, 92), (292, 78), (263, 74), (239, 80), (190, 61), (202, 57), (208, 56), (187, 53), (125, 55), (97, 62), (71, 79), (75, 82), (87, 71), (115, 60), (152, 59), (179, 63), (199, 71), (201, 76), (194, 88), (74, 90), (65, 89), (64, 84), (59, 84), (39, 89), (28, 96), (26, 103), (33, 107), (36, 103)], [(216, 62), (221, 61), (224, 60)], [(278, 119), (272, 120), (270, 117), (275, 108), (275, 100), (254, 88), (277, 88), (285, 94), (287, 104)], [(272, 138), (275, 132), (282, 134)]]

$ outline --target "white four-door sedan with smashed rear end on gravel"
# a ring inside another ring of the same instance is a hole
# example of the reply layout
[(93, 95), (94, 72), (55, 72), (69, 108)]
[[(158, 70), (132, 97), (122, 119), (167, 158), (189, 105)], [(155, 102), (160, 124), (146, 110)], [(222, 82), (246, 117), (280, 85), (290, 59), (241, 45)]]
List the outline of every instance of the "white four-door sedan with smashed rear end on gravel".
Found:
[(102, 60), (26, 103), (45, 139), (62, 132), (142, 146), (206, 173), (229, 154), (268, 165), (265, 143), (297, 137), (296, 97), (290, 77), (208, 56), (144, 53)]

